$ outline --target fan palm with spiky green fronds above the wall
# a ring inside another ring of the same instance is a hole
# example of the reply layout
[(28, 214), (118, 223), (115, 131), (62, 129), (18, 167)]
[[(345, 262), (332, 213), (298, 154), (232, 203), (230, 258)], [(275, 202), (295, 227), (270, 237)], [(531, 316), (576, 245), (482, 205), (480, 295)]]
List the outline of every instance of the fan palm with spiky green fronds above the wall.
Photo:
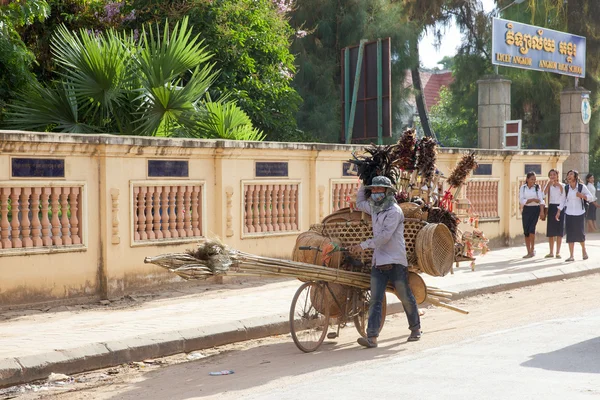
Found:
[[(114, 29), (79, 34), (61, 27), (52, 40), (60, 80), (32, 84), (8, 114), (10, 126), (59, 132), (151, 136), (261, 137), (233, 103), (207, 105), (217, 72), (188, 19), (171, 30), (148, 26), (140, 40)], [(221, 107), (222, 106), (222, 107)], [(226, 129), (207, 121), (236, 116)], [(247, 118), (247, 117), (246, 117)], [(251, 125), (250, 125), (251, 127)]]

